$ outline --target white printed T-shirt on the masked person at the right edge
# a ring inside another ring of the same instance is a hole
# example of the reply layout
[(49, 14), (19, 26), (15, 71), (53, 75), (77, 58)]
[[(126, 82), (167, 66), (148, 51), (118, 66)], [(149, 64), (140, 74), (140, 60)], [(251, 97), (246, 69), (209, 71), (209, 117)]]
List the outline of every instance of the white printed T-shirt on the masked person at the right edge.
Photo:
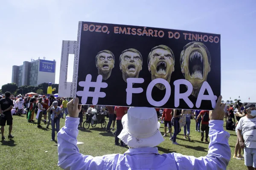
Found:
[(244, 116), (239, 120), (236, 127), (242, 130), (245, 146), (256, 148), (256, 117), (248, 119), (247, 116)]

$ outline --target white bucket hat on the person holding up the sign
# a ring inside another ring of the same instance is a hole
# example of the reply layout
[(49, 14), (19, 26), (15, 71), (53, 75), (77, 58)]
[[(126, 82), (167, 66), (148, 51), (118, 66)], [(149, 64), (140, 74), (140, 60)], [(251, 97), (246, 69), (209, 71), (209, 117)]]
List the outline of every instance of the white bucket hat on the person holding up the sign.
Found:
[(129, 147), (155, 147), (164, 141), (154, 108), (131, 107), (122, 117), (122, 125), (118, 138)]

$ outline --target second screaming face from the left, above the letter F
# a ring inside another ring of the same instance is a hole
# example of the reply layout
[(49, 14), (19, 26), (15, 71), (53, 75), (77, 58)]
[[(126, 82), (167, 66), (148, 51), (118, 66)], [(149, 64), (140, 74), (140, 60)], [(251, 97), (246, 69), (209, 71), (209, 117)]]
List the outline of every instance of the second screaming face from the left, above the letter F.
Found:
[(122, 71), (122, 77), (126, 81), (127, 78), (138, 78), (142, 70), (142, 55), (134, 48), (122, 51), (119, 57), (119, 67)]

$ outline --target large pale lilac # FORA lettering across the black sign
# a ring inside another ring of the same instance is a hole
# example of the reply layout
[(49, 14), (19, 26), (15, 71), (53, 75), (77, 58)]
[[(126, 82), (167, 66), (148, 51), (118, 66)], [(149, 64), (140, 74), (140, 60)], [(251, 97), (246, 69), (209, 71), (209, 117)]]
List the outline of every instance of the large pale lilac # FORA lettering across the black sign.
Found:
[[(97, 105), (99, 98), (104, 98), (106, 96), (105, 92), (100, 92), (101, 88), (107, 88), (108, 84), (106, 82), (102, 82), (102, 75), (98, 75), (96, 82), (92, 82), (92, 76), (87, 74), (85, 81), (80, 81), (79, 86), (84, 87), (83, 91), (77, 91), (77, 96), (81, 96), (81, 104), (86, 104), (88, 97), (93, 97), (92, 104)], [(143, 83), (143, 78), (128, 78), (127, 79), (127, 88), (126, 88), (126, 104), (131, 105), (132, 103), (132, 94), (140, 94), (143, 92), (143, 88), (133, 88), (134, 83)], [(156, 84), (163, 84), (166, 87), (166, 93), (162, 100), (155, 101), (152, 98), (152, 90)], [(180, 99), (183, 99), (184, 102), (189, 106), (189, 108), (193, 108), (194, 104), (189, 99), (189, 96), (192, 94), (193, 87), (192, 84), (186, 79), (178, 79), (173, 83), (175, 86), (174, 93), (174, 105), (175, 108), (180, 106)], [(180, 85), (186, 85), (187, 91), (185, 93), (180, 93)], [(94, 87), (94, 91), (89, 91), (90, 87)], [(208, 94), (204, 95), (204, 92), (207, 91)], [(152, 80), (148, 88), (146, 90), (146, 98), (148, 103), (154, 107), (160, 107), (165, 105), (171, 96), (171, 86), (169, 82), (165, 79), (154, 79)], [(210, 100), (212, 103), (212, 108), (215, 108), (217, 96), (213, 94), (212, 88), (208, 84), (208, 82), (204, 82), (201, 86), (201, 89), (198, 94), (198, 98), (196, 100), (196, 108), (200, 108), (202, 100)]]

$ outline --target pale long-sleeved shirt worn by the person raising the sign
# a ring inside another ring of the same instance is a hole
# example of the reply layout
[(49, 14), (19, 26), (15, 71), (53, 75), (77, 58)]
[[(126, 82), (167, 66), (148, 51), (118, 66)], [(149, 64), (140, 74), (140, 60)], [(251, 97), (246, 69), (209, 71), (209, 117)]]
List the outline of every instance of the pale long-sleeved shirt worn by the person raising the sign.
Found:
[[(230, 161), (230, 134), (223, 120), (209, 121), (209, 151), (195, 158), (179, 153), (160, 155), (157, 147), (132, 148), (124, 154), (89, 156), (77, 147), (79, 118), (66, 117), (58, 132), (58, 166), (65, 170), (225, 170)], [(205, 153), (206, 154), (206, 153)]]

